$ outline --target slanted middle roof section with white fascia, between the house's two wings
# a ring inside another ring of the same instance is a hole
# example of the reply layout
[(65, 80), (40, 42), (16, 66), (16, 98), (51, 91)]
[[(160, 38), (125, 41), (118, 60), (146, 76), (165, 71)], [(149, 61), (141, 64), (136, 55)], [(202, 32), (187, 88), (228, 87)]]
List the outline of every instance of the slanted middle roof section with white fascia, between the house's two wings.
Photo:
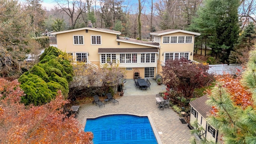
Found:
[(122, 37), (122, 36), (118, 36), (116, 41), (159, 48), (159, 43), (158, 42), (148, 42), (148, 41), (144, 41), (144, 40), (136, 40), (134, 38), (126, 38), (126, 37)]

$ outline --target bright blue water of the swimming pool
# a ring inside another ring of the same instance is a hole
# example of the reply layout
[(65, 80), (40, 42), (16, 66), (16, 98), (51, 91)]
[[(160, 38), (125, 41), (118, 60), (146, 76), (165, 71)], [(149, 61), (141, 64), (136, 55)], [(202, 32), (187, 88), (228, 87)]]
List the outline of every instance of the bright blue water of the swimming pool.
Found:
[(87, 119), (94, 144), (157, 144), (147, 116), (116, 114)]

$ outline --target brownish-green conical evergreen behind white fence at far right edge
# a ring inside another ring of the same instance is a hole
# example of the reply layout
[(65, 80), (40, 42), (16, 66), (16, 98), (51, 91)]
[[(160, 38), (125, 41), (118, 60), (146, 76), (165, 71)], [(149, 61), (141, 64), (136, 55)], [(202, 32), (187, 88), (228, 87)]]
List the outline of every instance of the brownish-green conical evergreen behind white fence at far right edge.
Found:
[(244, 32), (238, 38), (238, 44), (234, 46), (229, 56), (230, 63), (244, 64), (248, 61), (249, 51), (254, 48), (256, 42), (256, 30), (253, 22), (246, 26)]

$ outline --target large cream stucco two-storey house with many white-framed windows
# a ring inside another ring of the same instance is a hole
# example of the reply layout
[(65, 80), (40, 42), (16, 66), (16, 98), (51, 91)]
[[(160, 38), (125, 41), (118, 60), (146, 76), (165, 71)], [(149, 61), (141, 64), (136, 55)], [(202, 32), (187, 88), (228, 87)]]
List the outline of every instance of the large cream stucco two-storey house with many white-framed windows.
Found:
[(163, 30), (150, 33), (154, 41), (146, 42), (92, 26), (52, 34), (57, 37), (57, 47), (72, 55), (75, 61), (98, 67), (119, 62), (126, 68), (128, 79), (134, 78), (134, 70), (139, 71), (141, 78), (155, 78), (168, 59), (193, 60), (194, 37), (200, 35), (184, 30)]

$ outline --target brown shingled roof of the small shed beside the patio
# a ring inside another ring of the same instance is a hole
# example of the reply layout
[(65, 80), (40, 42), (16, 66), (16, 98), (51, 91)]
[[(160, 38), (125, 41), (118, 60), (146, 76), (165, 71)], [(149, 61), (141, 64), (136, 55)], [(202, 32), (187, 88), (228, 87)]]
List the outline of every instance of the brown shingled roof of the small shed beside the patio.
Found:
[(209, 100), (209, 98), (207, 95), (204, 95), (189, 103), (204, 118), (206, 118), (207, 114), (212, 110), (211, 106), (205, 104), (206, 100)]

